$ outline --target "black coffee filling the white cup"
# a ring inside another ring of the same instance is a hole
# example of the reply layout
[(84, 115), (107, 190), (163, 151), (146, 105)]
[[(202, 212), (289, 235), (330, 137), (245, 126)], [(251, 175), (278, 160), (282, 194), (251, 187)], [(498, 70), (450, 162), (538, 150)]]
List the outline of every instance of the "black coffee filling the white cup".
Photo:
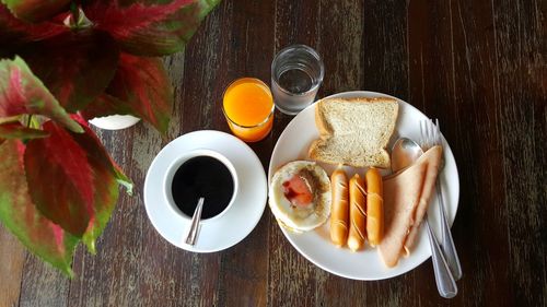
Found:
[(200, 197), (205, 198), (201, 219), (221, 213), (234, 193), (234, 180), (230, 169), (211, 156), (195, 156), (183, 163), (171, 186), (175, 204), (191, 216)]

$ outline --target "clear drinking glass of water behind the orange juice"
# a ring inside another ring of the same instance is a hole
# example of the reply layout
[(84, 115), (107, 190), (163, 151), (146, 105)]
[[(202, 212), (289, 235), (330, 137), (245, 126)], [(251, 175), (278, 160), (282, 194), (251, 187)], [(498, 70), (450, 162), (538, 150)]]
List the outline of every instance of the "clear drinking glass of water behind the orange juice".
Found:
[(319, 55), (309, 46), (286, 47), (271, 63), (271, 93), (276, 107), (296, 115), (315, 99), (325, 68)]

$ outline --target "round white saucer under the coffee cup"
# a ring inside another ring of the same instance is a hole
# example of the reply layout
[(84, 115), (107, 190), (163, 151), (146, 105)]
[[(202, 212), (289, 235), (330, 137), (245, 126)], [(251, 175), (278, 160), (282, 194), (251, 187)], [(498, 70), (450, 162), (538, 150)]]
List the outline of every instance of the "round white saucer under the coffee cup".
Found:
[[(216, 151), (230, 160), (236, 169), (240, 189), (225, 214), (201, 225), (196, 245), (189, 246), (184, 243), (189, 221), (170, 211), (162, 192), (162, 178), (182, 153), (198, 149)], [(144, 180), (144, 206), (152, 225), (174, 246), (196, 252), (223, 250), (244, 239), (258, 224), (267, 194), (266, 174), (253, 150), (231, 134), (212, 130), (195, 131), (173, 140), (155, 156)]]

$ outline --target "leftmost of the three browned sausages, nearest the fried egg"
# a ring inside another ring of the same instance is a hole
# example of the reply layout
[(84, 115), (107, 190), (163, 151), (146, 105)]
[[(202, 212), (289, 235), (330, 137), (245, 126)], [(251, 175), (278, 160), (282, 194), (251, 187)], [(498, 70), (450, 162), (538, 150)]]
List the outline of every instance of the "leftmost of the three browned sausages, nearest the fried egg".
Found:
[(341, 167), (330, 175), (333, 206), (330, 209), (330, 240), (342, 247), (348, 240), (349, 201), (348, 177)]

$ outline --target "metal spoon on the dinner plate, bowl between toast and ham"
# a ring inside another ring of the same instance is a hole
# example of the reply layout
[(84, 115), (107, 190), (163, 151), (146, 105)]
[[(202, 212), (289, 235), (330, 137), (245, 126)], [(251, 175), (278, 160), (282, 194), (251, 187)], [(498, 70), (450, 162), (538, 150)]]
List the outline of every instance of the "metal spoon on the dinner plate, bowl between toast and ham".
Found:
[[(392, 170), (394, 173), (410, 166), (420, 155), (423, 154), (422, 149), (415, 141), (400, 138), (392, 149)], [(456, 282), (450, 271), (446, 260), (441, 251), (439, 241), (431, 231), (429, 225), (428, 215), (426, 213), (426, 226), (428, 228), (429, 244), (431, 246), (431, 259), (433, 262), (433, 271), (435, 273), (437, 288), (439, 294), (445, 298), (452, 298), (457, 294)]]

